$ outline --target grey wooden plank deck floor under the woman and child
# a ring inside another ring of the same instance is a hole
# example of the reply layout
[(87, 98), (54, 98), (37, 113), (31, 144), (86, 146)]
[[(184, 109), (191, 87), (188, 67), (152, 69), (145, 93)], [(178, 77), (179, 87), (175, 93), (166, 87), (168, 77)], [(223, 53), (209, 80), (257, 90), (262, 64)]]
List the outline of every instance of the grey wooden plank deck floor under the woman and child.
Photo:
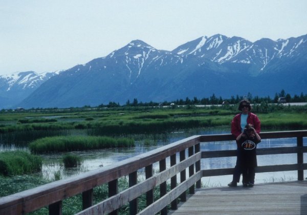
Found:
[(307, 180), (195, 189), (169, 214), (307, 214)]

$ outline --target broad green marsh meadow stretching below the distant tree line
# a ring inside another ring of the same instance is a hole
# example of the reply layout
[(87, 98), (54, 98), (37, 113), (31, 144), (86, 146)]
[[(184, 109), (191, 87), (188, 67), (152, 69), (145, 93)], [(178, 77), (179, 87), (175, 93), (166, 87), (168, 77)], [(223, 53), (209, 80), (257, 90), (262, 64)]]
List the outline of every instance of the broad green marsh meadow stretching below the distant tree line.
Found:
[[(78, 109), (79, 110), (79, 109)], [(14, 141), (29, 143), (42, 137), (66, 136), (72, 130), (85, 130), (91, 136), (117, 136), (129, 134), (162, 134), (185, 128), (230, 126), (230, 122), (239, 111), (237, 106), (211, 107), (118, 107), (90, 111), (68, 111), (63, 113), (24, 112), (1, 113), (0, 133), (20, 138)], [(282, 106), (261, 103), (253, 106), (253, 113), (261, 121), (261, 127), (288, 130), (307, 128), (306, 106)], [(57, 117), (57, 121), (40, 122), (39, 117)], [(29, 118), (31, 117), (31, 120)], [(33, 119), (32, 119), (33, 118)], [(34, 120), (35, 119), (35, 120)], [(27, 123), (20, 123), (25, 120)], [(4, 139), (5, 140), (5, 139)], [(8, 141), (8, 142), (12, 142)]]

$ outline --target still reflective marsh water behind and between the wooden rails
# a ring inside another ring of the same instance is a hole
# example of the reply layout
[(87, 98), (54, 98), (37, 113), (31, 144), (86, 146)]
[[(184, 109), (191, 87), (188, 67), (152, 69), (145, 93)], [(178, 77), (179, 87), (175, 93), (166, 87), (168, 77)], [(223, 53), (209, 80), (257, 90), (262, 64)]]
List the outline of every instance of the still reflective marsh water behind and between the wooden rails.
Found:
[[(44, 178), (53, 179), (55, 173), (60, 173), (61, 178), (67, 178), (73, 175), (79, 175), (85, 171), (101, 168), (118, 161), (137, 156), (139, 154), (148, 152), (149, 150), (161, 147), (163, 145), (190, 137), (192, 135), (210, 135), (210, 134), (229, 134), (228, 127), (220, 128), (202, 128), (193, 129), (186, 131), (173, 132), (165, 135), (144, 135), (144, 136), (131, 136), (136, 139), (136, 146), (133, 148), (107, 148), (99, 150), (90, 150), (83, 152), (72, 152), (71, 154), (77, 154), (82, 157), (83, 163), (81, 166), (76, 168), (65, 169), (61, 164), (61, 158), (64, 153), (48, 154), (43, 155), (44, 163), (42, 167), (42, 175)], [(144, 144), (149, 142), (150, 146)], [(303, 139), (304, 145), (307, 145), (307, 138)], [(269, 148), (269, 147), (287, 147), (296, 146), (296, 138), (282, 138), (282, 139), (264, 139), (258, 144), (258, 148)], [(23, 149), (28, 150), (26, 146), (15, 147), (14, 145), (4, 146), (0, 144), (0, 151), (5, 150), (16, 150)], [(223, 142), (209, 142), (201, 143), (201, 150), (232, 150), (236, 149), (234, 141), (223, 141)], [(179, 158), (177, 159), (179, 162)], [(170, 166), (169, 159), (167, 166)], [(262, 165), (279, 165), (279, 164), (295, 164), (297, 162), (296, 154), (283, 154), (283, 155), (268, 155), (268, 156), (257, 156), (258, 166)], [(201, 168), (232, 168), (236, 162), (235, 157), (231, 158), (210, 158), (202, 159)], [(304, 156), (304, 163), (307, 162), (307, 157)], [(155, 170), (158, 169), (159, 164), (153, 165)], [(304, 171), (306, 176), (307, 170)], [(140, 177), (143, 178), (144, 174), (140, 170)], [(180, 177), (177, 177), (180, 180)], [(203, 177), (203, 186), (227, 186), (232, 180), (232, 176), (218, 176), (218, 177)], [(255, 184), (276, 182), (276, 181), (294, 181), (297, 180), (297, 171), (283, 171), (275, 173), (256, 173)]]

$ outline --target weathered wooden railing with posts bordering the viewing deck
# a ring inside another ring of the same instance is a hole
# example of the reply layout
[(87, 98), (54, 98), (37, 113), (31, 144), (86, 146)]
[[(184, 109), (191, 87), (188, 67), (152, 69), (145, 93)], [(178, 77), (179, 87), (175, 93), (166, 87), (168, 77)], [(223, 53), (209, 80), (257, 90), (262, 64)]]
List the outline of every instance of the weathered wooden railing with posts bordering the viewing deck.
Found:
[[(307, 136), (307, 131), (267, 132), (260, 136), (262, 140), (296, 138), (295, 147), (259, 148), (257, 155), (295, 153), (297, 163), (258, 166), (256, 172), (297, 170), (298, 180), (303, 180), (303, 170), (307, 169), (307, 164), (303, 163), (303, 153), (307, 152), (303, 137)], [(0, 198), (0, 214), (24, 214), (45, 206), (49, 206), (50, 214), (61, 214), (62, 200), (79, 193), (82, 193), (83, 210), (78, 214), (117, 214), (118, 209), (127, 203), (130, 214), (160, 211), (166, 214), (167, 205), (176, 210), (178, 200), (186, 201), (186, 191), (193, 194), (195, 187), (201, 187), (202, 177), (232, 175), (233, 168), (201, 169), (201, 159), (236, 156), (236, 150), (201, 152), (201, 142), (230, 140), (234, 140), (230, 134), (192, 136), (79, 176)], [(166, 161), (170, 165), (166, 165)], [(159, 173), (153, 175), (153, 165), (158, 162)], [(145, 170), (145, 179), (138, 183), (138, 171), (142, 169)], [(118, 192), (118, 179), (124, 176), (128, 176), (129, 188)], [(177, 176), (180, 176), (180, 183)], [(170, 181), (169, 191), (167, 181)], [(93, 205), (93, 188), (102, 184), (108, 184), (109, 198)], [(157, 186), (160, 187), (160, 198), (154, 201), (153, 190)], [(147, 207), (140, 211), (138, 197), (145, 193)]]

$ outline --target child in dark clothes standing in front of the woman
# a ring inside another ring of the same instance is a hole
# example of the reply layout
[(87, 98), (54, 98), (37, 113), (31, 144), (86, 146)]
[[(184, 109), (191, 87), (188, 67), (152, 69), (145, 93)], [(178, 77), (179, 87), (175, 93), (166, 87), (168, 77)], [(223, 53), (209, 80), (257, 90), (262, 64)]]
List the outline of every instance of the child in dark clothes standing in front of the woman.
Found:
[(255, 167), (257, 166), (256, 147), (261, 142), (252, 124), (247, 124), (244, 131), (236, 138), (240, 148), (240, 167), (243, 174), (243, 186), (252, 187), (255, 181)]

